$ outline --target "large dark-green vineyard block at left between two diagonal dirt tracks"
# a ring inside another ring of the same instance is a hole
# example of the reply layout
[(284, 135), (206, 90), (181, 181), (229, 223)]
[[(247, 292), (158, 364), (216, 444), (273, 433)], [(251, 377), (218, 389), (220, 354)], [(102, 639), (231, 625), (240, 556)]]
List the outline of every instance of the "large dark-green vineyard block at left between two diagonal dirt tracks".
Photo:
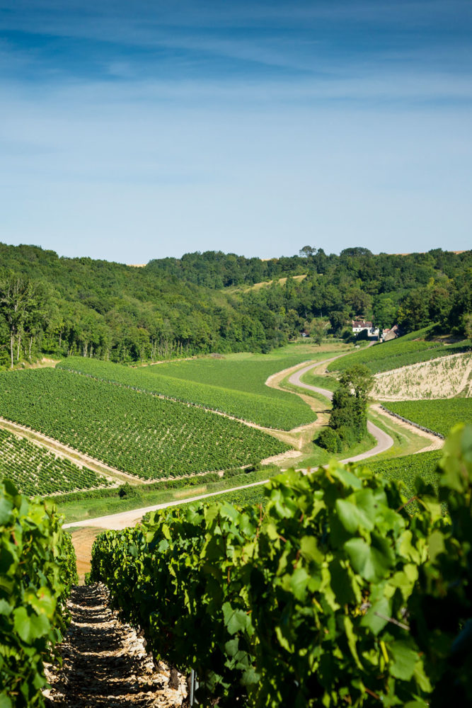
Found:
[(289, 450), (215, 413), (54, 369), (1, 373), (0, 414), (142, 479), (226, 469)]

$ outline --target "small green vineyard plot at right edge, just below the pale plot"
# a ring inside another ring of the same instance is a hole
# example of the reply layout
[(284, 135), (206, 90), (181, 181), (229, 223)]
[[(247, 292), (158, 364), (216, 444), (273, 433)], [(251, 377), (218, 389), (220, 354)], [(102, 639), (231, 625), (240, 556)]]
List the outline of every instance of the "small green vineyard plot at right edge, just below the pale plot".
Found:
[(389, 411), (398, 413), (423, 428), (449, 435), (456, 423), (472, 423), (471, 399), (436, 399), (429, 401), (388, 401)]

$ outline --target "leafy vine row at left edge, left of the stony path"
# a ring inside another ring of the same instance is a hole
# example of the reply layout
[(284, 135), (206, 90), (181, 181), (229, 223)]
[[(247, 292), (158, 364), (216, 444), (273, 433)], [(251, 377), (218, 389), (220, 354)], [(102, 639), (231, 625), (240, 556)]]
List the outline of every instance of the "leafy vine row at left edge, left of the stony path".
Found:
[(0, 706), (41, 707), (44, 664), (67, 629), (76, 556), (56, 511), (10, 481), (0, 484), (0, 558)]

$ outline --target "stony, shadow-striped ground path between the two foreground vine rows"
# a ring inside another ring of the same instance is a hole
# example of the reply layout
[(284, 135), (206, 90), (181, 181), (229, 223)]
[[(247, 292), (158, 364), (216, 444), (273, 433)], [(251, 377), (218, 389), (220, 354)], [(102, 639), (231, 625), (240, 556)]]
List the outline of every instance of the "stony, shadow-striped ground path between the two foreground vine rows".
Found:
[(174, 708), (182, 705), (185, 682), (168, 687), (169, 670), (154, 666), (144, 640), (110, 610), (105, 586), (75, 586), (72, 621), (61, 645), (63, 666), (47, 666), (49, 708)]

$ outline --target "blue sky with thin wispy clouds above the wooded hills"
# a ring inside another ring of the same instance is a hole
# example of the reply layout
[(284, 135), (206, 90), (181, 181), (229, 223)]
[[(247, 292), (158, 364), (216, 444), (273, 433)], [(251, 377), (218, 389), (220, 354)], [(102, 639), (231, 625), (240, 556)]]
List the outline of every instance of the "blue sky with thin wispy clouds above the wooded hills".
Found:
[(470, 0), (6, 0), (0, 241), (471, 245)]

